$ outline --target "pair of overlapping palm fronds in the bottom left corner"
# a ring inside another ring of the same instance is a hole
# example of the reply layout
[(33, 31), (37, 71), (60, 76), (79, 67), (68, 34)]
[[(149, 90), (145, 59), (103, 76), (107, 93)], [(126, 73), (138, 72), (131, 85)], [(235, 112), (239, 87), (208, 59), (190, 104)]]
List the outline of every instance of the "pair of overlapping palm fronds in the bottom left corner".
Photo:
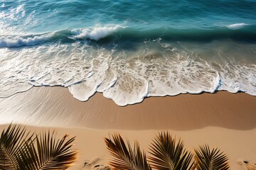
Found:
[(0, 169), (67, 169), (75, 161), (77, 152), (70, 149), (75, 137), (66, 140), (65, 135), (56, 141), (54, 132), (25, 134), (26, 129), (16, 125), (2, 132)]

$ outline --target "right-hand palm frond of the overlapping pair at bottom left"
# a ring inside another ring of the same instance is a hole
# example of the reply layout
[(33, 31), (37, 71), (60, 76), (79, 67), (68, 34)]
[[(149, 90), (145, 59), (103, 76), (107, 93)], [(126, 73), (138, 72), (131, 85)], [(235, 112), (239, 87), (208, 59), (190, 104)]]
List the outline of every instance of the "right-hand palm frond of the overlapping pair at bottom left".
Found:
[(65, 135), (61, 140), (55, 140), (54, 132), (43, 132), (36, 136), (36, 145), (33, 140), (25, 142), (21, 154), (17, 155), (21, 169), (67, 169), (75, 159), (77, 152), (72, 151), (72, 142), (75, 137), (66, 141)]

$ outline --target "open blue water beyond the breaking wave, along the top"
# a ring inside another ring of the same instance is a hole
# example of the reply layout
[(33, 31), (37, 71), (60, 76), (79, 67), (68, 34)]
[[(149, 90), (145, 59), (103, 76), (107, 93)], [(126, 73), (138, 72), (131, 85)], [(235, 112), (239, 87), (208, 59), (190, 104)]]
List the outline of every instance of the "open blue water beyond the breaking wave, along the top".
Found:
[(256, 24), (256, 1), (1, 1), (1, 22), (26, 33), (124, 24), (134, 30)]

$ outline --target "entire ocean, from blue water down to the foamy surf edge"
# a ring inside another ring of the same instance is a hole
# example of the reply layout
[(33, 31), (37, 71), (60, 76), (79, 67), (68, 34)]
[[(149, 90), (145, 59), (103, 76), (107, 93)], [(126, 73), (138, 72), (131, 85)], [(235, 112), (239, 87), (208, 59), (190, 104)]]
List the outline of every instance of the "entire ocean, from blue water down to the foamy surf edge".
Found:
[(0, 1), (0, 98), (63, 86), (119, 106), (149, 96), (256, 96), (255, 0)]

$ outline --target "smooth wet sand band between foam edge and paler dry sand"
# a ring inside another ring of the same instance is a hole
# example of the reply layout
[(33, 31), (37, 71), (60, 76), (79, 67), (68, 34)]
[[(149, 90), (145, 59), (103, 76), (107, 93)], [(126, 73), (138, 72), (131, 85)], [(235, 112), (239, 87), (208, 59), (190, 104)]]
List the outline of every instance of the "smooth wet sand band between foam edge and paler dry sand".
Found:
[(33, 87), (0, 98), (0, 124), (99, 130), (195, 130), (208, 126), (252, 130), (256, 128), (255, 111), (255, 96), (227, 91), (149, 97), (124, 107), (100, 93), (78, 101), (63, 87)]

